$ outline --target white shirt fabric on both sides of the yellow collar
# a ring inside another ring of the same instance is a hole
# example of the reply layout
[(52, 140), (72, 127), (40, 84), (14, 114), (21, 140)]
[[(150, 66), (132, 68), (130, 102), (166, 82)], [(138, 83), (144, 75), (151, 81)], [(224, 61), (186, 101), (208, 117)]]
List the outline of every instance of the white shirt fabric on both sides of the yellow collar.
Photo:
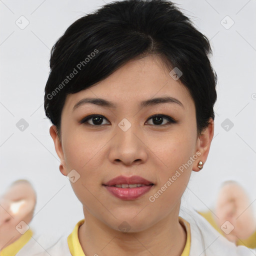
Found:
[[(194, 209), (180, 207), (179, 216), (190, 224), (190, 251), (189, 256), (255, 256), (256, 249), (245, 246), (236, 246), (219, 234)], [(55, 244), (46, 248), (43, 253), (31, 256), (79, 256), (71, 255), (67, 244), (67, 237), (60, 237)], [(21, 256), (21, 255), (17, 255)], [(22, 255), (23, 256), (23, 255)], [(27, 254), (26, 256), (30, 256)], [(158, 256), (158, 255), (156, 255)]]

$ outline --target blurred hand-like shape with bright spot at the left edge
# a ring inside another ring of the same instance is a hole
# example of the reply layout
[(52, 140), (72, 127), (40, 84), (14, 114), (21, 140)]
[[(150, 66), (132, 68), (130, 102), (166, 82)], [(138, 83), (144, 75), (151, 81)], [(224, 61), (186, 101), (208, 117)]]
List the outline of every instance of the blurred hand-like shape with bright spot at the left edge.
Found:
[[(13, 208), (13, 203), (19, 203), (19, 207)], [(14, 182), (0, 196), (0, 250), (21, 236), (15, 227), (20, 221), (29, 224), (35, 203), (36, 194), (33, 187), (23, 180)]]

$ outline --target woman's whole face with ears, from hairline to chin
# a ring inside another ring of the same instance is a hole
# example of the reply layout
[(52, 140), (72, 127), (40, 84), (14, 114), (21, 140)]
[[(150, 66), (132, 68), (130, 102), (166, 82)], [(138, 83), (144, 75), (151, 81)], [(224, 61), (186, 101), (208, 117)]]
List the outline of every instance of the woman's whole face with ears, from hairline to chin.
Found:
[[(156, 56), (129, 61), (96, 85), (67, 95), (61, 142), (55, 126), (50, 129), (63, 165), (61, 172), (71, 171), (71, 185), (84, 213), (116, 230), (123, 221), (130, 231), (144, 230), (178, 214), (191, 170), (199, 170), (198, 161), (206, 160), (207, 129), (206, 140), (197, 137), (194, 102), (169, 71)], [(158, 97), (173, 100), (140, 105)], [(115, 107), (82, 103), (85, 98), (107, 100)], [(89, 115), (95, 116), (86, 121)], [(137, 175), (153, 185), (106, 186), (119, 175)]]

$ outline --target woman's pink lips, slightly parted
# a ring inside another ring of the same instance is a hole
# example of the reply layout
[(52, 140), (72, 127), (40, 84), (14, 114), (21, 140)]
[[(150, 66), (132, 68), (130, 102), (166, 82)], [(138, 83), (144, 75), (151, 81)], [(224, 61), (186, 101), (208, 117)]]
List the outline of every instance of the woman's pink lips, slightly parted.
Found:
[[(144, 184), (144, 186), (139, 187), (115, 187), (113, 185), (117, 184)], [(123, 200), (133, 200), (143, 195), (147, 191), (151, 189), (153, 186), (153, 182), (146, 180), (140, 176), (117, 176), (111, 180), (109, 180), (106, 184), (103, 184), (106, 189), (113, 194), (114, 196), (123, 199)]]

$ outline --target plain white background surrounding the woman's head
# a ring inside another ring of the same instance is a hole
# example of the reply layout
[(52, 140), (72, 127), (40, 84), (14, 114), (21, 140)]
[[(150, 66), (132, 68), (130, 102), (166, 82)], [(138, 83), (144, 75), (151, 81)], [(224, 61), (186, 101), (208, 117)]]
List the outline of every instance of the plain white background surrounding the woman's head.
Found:
[[(38, 233), (68, 234), (83, 218), (80, 202), (58, 170), (43, 110), (50, 48), (73, 21), (104, 2), (110, 1), (0, 1), (0, 194), (19, 178), (33, 184), (37, 204), (30, 225)], [(203, 169), (191, 175), (183, 203), (211, 208), (221, 182), (233, 179), (256, 208), (256, 1), (174, 2), (210, 39), (218, 75), (214, 138)], [(15, 24), (21, 15), (29, 21), (24, 29)], [(229, 29), (221, 24), (230, 24), (226, 15), (234, 21)], [(16, 127), (21, 118), (29, 124), (24, 131)], [(221, 127), (226, 118), (234, 124), (228, 131)]]

